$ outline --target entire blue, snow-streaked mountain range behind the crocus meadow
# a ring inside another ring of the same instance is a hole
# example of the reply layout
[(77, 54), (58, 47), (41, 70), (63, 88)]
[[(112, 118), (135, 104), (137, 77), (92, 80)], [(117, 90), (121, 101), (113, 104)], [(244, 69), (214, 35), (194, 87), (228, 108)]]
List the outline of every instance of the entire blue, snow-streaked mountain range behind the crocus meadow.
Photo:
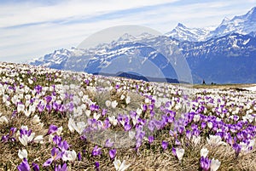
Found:
[[(177, 58), (183, 55), (189, 64), (194, 83), (201, 83), (203, 79), (207, 83), (256, 83), (255, 14), (256, 8), (253, 8), (247, 14), (235, 16), (231, 20), (225, 18), (213, 30), (189, 29), (178, 24), (166, 36), (144, 33), (134, 37), (125, 34), (112, 43), (99, 44), (95, 48), (55, 50), (30, 64), (89, 73), (107, 73), (106, 68), (118, 68), (113, 74), (126, 67), (128, 71), (140, 73), (143, 77), (160, 77), (160, 71), (164, 77), (186, 82), (179, 80), (175, 71), (175, 67), (180, 65)], [(178, 52), (166, 57), (157, 50), (163, 47), (166, 47), (164, 51), (167, 50), (169, 54), (173, 53), (172, 48), (177, 48)], [(133, 56), (141, 57), (131, 58)], [(134, 71), (137, 68), (143, 69), (145, 61), (152, 63), (159, 71)], [(115, 63), (124, 66), (114, 66)], [(126, 77), (133, 75), (123, 72)]]

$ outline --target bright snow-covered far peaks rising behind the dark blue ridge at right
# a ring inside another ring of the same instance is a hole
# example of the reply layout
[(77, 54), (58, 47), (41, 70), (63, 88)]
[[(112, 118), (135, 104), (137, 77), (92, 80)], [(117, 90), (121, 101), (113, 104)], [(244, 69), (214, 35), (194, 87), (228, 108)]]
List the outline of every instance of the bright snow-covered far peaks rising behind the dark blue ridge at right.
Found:
[(255, 37), (256, 31), (256, 7), (241, 16), (235, 16), (233, 19), (227, 17), (215, 29), (209, 28), (188, 28), (183, 24), (177, 24), (172, 31), (167, 32), (166, 36), (176, 38), (180, 41), (200, 42), (207, 41), (210, 38), (223, 37), (230, 33), (239, 33), (243, 35), (252, 34)]

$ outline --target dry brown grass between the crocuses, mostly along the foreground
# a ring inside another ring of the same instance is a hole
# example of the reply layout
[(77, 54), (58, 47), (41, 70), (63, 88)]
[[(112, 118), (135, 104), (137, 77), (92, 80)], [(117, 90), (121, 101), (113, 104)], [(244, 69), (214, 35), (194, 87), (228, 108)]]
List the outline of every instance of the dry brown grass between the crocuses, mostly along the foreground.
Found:
[[(203, 86), (204, 87), (204, 86)], [(205, 87), (204, 87), (205, 88)], [(134, 100), (134, 107), (137, 108), (137, 101), (141, 101), (141, 97), (134, 94), (131, 95), (131, 99)], [(113, 96), (113, 99), (118, 99), (120, 94)], [(99, 97), (98, 97), (99, 98)], [(108, 99), (108, 98), (107, 98)], [(104, 99), (102, 100), (104, 101)], [(133, 105), (131, 105), (133, 106)], [(58, 127), (63, 127), (62, 137), (64, 140), (72, 145), (70, 149), (77, 152), (83, 152), (82, 161), (74, 162), (73, 164), (69, 162), (68, 167), (70, 170), (94, 170), (94, 163), (100, 162), (101, 170), (114, 170), (113, 161), (108, 157), (108, 149), (102, 149), (101, 157), (91, 157), (90, 152), (95, 146), (94, 143), (80, 140), (79, 134), (70, 133), (67, 128), (68, 118), (66, 116), (60, 116), (55, 113), (40, 115), (41, 122), (44, 126), (41, 128), (38, 125), (33, 125), (31, 120), (32, 117), (25, 117), (24, 115), (16, 116), (11, 118), (11, 112), (9, 109), (5, 109), (3, 106), (0, 107), (2, 113), (9, 117), (9, 124), (5, 126), (0, 126), (0, 136), (3, 134), (8, 134), (9, 128), (16, 127), (20, 128), (21, 125), (27, 125), (28, 128), (32, 128), (32, 131), (39, 134), (46, 134), (50, 124), (55, 124)], [(131, 110), (131, 109), (129, 109)], [(128, 110), (128, 111), (129, 111)], [(39, 114), (38, 114), (39, 115)], [(167, 140), (173, 142), (173, 138), (170, 137), (168, 131), (161, 131), (157, 134), (157, 140), (154, 141), (152, 145), (144, 142), (139, 152), (137, 153), (133, 147), (131, 148), (120, 148), (117, 149), (117, 158), (125, 159), (125, 161), (131, 164), (130, 168), (127, 170), (198, 170), (200, 151), (203, 145), (206, 145), (206, 140), (202, 140), (200, 145), (189, 145), (183, 146), (185, 149), (185, 155), (182, 162), (178, 162), (172, 155), (172, 146), (169, 146), (167, 151), (162, 151), (160, 144), (161, 140)], [(37, 162), (42, 170), (52, 170), (53, 168), (43, 168), (43, 163), (50, 157), (50, 151), (53, 144), (48, 142), (48, 136), (44, 137), (44, 144), (32, 144), (26, 146), (26, 151), (28, 151), (28, 161), (30, 164), (32, 162)], [(247, 155), (235, 156), (234, 150), (227, 145), (221, 145), (218, 147), (212, 147), (206, 145), (209, 152), (209, 157), (214, 157), (221, 162), (221, 166), (218, 170), (255, 170), (256, 168), (256, 151), (251, 151)], [(18, 157), (18, 150), (24, 148), (20, 142), (13, 143), (0, 143), (0, 170), (16, 170), (16, 167), (20, 164), (21, 159)]]

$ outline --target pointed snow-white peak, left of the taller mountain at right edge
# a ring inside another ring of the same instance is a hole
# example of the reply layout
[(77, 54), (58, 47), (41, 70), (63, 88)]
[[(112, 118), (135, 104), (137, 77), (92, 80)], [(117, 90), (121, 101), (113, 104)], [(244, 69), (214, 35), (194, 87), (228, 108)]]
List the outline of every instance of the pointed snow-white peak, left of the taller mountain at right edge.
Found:
[(172, 31), (166, 33), (166, 36), (176, 38), (180, 41), (197, 42), (204, 41), (209, 33), (209, 29), (188, 28), (178, 23)]

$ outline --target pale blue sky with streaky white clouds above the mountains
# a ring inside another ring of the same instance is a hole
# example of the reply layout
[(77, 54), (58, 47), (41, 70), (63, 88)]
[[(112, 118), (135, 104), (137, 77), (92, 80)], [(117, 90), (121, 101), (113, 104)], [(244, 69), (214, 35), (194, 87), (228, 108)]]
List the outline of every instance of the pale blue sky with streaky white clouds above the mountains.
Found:
[(218, 26), (246, 14), (256, 0), (1, 0), (0, 61), (21, 62), (76, 47), (110, 26), (139, 25), (166, 33), (177, 23)]

